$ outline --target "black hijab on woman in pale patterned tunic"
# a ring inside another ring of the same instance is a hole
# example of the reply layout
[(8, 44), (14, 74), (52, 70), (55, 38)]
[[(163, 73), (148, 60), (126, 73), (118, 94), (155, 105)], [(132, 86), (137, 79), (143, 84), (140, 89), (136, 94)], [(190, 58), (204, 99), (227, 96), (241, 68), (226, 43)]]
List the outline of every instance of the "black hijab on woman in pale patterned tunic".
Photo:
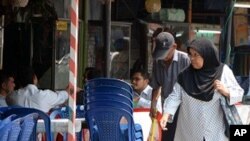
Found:
[(178, 83), (193, 98), (210, 101), (213, 98), (216, 79), (221, 78), (223, 64), (220, 63), (218, 50), (208, 39), (199, 38), (193, 40), (188, 46), (196, 50), (204, 59), (201, 69), (193, 68), (192, 64), (182, 71), (178, 76)]

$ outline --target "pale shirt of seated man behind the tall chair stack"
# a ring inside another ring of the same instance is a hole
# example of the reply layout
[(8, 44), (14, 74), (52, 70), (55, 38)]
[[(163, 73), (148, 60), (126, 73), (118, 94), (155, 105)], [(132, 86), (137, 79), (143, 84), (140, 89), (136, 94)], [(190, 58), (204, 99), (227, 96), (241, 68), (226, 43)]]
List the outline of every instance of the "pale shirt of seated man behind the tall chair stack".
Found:
[[(151, 86), (147, 86), (141, 94), (138, 94), (134, 91), (134, 95), (140, 96), (140, 99), (134, 108), (150, 108), (151, 107), (151, 97), (152, 97), (153, 88)], [(157, 110), (162, 113), (162, 106), (161, 106), (161, 96), (159, 96), (156, 105)]]

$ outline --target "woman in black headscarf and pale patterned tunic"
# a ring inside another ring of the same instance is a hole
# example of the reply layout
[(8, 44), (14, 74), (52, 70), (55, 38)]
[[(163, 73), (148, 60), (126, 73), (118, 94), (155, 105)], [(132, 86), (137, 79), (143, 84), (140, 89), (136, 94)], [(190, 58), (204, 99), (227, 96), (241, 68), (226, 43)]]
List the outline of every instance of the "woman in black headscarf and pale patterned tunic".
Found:
[(191, 65), (178, 75), (173, 92), (164, 101), (163, 130), (180, 106), (175, 141), (225, 141), (220, 97), (230, 104), (242, 100), (243, 89), (231, 69), (221, 63), (218, 50), (208, 39), (193, 40), (188, 46)]

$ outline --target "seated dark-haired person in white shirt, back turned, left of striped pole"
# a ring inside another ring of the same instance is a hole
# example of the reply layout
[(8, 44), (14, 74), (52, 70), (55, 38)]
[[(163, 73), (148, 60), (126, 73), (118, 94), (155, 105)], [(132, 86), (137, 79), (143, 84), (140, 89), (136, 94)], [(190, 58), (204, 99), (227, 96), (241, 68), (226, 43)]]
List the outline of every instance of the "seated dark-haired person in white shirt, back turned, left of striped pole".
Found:
[(8, 105), (36, 108), (48, 113), (50, 109), (65, 104), (69, 98), (70, 88), (62, 91), (39, 89), (38, 79), (32, 67), (19, 69), (18, 80), (21, 88), (6, 97)]

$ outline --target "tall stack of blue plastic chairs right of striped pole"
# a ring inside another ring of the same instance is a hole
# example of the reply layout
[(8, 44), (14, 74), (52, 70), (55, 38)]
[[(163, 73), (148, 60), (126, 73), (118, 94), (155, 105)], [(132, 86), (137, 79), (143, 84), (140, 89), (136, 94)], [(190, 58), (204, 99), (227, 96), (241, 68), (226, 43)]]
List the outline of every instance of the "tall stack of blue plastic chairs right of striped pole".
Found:
[[(114, 78), (96, 78), (85, 85), (85, 118), (93, 141), (143, 141), (133, 120), (132, 87)], [(121, 121), (126, 124), (121, 124)]]

